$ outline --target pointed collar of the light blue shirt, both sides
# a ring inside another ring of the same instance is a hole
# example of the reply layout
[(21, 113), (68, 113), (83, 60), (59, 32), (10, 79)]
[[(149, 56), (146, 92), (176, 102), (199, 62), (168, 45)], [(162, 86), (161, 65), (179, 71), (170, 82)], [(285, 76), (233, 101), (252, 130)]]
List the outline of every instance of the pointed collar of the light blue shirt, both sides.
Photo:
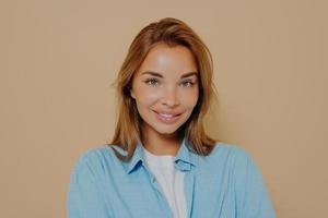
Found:
[[(191, 169), (191, 166), (197, 167), (198, 162), (198, 155), (192, 153), (190, 149), (189, 141), (184, 137), (180, 147), (177, 152), (177, 155), (174, 158), (176, 167), (181, 171), (189, 171)], [(143, 145), (139, 141), (139, 143), (136, 146), (136, 150), (131, 157), (131, 159), (128, 162), (125, 162), (125, 169), (127, 173), (131, 173), (134, 169), (138, 169), (141, 164), (144, 164), (144, 152), (143, 152)]]

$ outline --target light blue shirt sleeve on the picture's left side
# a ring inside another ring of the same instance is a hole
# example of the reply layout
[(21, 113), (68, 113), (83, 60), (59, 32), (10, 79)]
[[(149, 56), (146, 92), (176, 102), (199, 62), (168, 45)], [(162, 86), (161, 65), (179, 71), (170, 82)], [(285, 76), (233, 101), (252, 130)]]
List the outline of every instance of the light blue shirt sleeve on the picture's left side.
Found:
[(109, 218), (99, 180), (99, 166), (90, 157), (82, 155), (70, 175), (67, 194), (68, 218)]

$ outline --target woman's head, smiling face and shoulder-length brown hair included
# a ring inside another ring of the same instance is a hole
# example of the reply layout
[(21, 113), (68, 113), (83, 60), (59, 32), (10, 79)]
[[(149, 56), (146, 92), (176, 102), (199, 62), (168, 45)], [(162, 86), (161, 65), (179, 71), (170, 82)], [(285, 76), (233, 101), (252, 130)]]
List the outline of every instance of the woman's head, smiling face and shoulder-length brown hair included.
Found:
[(212, 74), (209, 49), (186, 23), (167, 17), (141, 29), (116, 81), (118, 120), (110, 144), (128, 152), (126, 158), (117, 154), (120, 159), (132, 156), (144, 131), (185, 136), (192, 150), (209, 154), (214, 141), (204, 133), (203, 118), (214, 94)]

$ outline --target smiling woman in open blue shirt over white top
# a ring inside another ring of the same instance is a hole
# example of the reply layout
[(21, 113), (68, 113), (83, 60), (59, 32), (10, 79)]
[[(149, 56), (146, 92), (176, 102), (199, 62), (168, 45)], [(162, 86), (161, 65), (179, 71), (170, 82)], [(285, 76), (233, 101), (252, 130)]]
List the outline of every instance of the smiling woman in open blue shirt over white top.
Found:
[(69, 218), (276, 217), (251, 157), (204, 132), (212, 59), (186, 23), (144, 27), (116, 84), (114, 140), (79, 158)]

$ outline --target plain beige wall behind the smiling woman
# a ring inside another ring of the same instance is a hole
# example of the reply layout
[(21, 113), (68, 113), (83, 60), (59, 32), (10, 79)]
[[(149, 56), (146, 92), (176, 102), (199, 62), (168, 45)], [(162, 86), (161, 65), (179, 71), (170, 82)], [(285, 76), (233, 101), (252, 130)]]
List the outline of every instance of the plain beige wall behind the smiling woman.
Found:
[(136, 34), (186, 21), (214, 58), (208, 131), (246, 148), (278, 216), (328, 214), (327, 3), (1, 1), (0, 217), (66, 217), (77, 158), (114, 132), (109, 84)]

